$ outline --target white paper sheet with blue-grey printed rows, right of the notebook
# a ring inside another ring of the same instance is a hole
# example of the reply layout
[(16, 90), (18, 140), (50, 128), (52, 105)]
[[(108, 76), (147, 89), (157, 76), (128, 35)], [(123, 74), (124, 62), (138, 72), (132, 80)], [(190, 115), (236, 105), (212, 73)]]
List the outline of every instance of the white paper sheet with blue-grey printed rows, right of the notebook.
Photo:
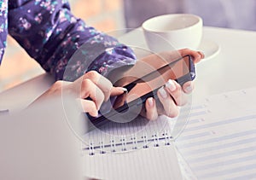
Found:
[(196, 178), (256, 178), (255, 94), (256, 88), (232, 91), (194, 107), (176, 145)]

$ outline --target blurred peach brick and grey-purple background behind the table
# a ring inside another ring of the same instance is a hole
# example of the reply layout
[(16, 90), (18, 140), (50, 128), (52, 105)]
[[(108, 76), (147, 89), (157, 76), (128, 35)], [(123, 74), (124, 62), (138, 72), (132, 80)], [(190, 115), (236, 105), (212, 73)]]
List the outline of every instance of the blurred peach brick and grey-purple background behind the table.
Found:
[[(155, 15), (200, 15), (204, 26), (256, 30), (255, 0), (69, 0), (73, 14), (102, 32), (136, 28)], [(8, 38), (0, 67), (0, 92), (44, 73), (36, 61)]]

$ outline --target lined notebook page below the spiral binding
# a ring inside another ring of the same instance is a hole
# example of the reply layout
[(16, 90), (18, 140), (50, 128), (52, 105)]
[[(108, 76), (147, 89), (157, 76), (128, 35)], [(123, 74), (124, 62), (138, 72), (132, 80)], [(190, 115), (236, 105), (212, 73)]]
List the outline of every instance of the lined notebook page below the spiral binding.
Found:
[(99, 179), (183, 179), (174, 146), (84, 156), (86, 176)]

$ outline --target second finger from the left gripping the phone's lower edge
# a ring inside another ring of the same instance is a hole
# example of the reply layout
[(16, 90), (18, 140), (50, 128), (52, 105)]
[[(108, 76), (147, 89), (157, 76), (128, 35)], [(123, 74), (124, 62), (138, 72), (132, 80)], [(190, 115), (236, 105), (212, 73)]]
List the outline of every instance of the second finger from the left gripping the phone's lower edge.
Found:
[(170, 118), (177, 117), (177, 114), (178, 114), (177, 105), (173, 101), (169, 93), (167, 93), (163, 87), (157, 91), (157, 96), (159, 97), (159, 100), (164, 107), (166, 116)]

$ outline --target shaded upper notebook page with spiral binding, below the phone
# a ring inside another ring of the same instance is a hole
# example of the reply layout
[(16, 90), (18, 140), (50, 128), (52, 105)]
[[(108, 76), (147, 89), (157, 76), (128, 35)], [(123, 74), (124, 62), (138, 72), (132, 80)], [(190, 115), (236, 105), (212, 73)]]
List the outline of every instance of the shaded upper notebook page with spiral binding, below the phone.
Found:
[(170, 134), (174, 120), (160, 117), (157, 121), (138, 118), (124, 125), (108, 123), (104, 128), (90, 131), (84, 151), (89, 155), (122, 153), (140, 148), (167, 146), (172, 141)]

